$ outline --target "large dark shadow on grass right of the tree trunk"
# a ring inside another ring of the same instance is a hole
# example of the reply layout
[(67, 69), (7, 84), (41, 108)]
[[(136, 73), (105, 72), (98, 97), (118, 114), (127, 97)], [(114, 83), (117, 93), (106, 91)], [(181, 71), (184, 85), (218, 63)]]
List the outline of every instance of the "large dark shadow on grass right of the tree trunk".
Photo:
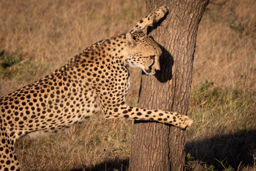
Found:
[[(194, 141), (185, 146), (194, 160), (224, 169), (219, 161), (231, 165), (235, 170), (241, 166), (253, 165), (256, 155), (256, 130), (241, 131), (231, 135), (214, 136), (211, 139)], [(217, 159), (217, 160), (216, 160)]]

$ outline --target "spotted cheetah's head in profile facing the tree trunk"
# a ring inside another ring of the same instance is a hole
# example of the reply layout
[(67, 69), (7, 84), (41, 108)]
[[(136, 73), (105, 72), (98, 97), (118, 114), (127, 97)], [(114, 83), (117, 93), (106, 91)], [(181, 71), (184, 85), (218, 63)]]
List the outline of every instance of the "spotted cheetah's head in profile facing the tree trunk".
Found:
[(147, 75), (153, 75), (160, 70), (159, 45), (142, 31), (128, 32), (126, 34), (128, 58), (131, 67), (140, 67)]

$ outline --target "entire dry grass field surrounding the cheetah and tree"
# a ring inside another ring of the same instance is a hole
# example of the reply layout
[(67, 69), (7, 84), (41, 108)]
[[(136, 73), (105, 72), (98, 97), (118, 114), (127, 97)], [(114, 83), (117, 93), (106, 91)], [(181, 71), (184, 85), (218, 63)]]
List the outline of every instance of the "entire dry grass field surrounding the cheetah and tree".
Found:
[[(212, 0), (200, 23), (187, 129), (188, 170), (256, 170), (256, 2)], [(131, 30), (141, 0), (0, 1), (0, 96)], [(140, 73), (127, 97), (136, 105)], [(94, 116), (70, 131), (16, 144), (24, 170), (127, 170), (132, 121)]]

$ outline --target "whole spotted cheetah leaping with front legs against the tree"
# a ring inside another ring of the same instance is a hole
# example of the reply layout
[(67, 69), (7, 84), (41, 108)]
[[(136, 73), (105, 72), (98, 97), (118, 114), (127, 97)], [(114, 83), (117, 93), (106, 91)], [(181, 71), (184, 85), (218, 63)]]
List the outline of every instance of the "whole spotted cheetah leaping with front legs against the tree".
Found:
[(20, 170), (14, 144), (21, 137), (57, 133), (102, 112), (106, 119), (155, 120), (179, 128), (193, 120), (176, 112), (125, 104), (129, 67), (147, 75), (160, 70), (159, 45), (141, 30), (167, 13), (162, 6), (141, 19), (131, 32), (100, 40), (50, 75), (0, 99), (0, 170)]

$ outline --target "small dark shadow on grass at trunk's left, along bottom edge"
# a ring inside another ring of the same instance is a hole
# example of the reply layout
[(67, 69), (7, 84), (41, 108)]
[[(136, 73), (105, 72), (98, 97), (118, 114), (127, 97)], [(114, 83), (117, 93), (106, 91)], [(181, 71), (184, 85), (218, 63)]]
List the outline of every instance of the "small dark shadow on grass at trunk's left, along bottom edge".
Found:
[(128, 170), (129, 158), (125, 160), (105, 161), (91, 167), (84, 167), (83, 169), (74, 169), (71, 171), (113, 171), (113, 170)]

